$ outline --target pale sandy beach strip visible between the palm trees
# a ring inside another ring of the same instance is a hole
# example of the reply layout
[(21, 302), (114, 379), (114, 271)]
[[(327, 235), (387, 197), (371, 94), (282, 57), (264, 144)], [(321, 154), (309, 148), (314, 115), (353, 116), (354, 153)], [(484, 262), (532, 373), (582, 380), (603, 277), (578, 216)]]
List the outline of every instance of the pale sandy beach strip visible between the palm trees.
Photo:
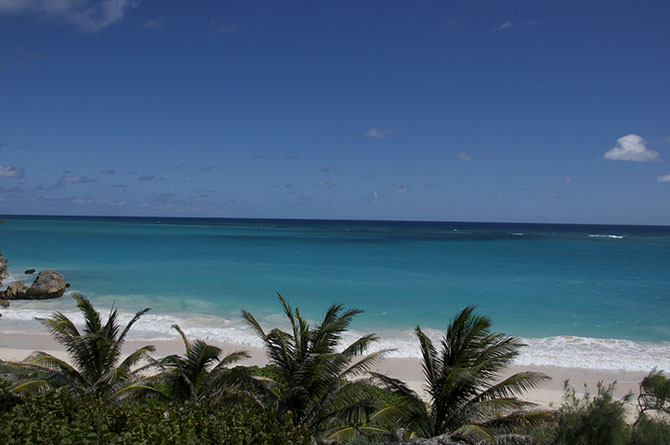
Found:
[[(224, 354), (241, 349), (249, 351), (251, 357), (240, 362), (242, 365), (262, 366), (267, 364), (265, 352), (260, 348), (212, 341), (209, 341), (209, 343), (221, 347)], [(130, 340), (125, 343), (124, 352), (128, 353), (146, 344), (153, 344), (156, 347), (155, 357), (182, 354), (184, 352), (181, 339), (152, 342)], [(20, 361), (35, 350), (48, 352), (60, 358), (67, 358), (63, 348), (46, 334), (0, 333), (0, 359), (2, 360)], [(617, 397), (623, 397), (629, 392), (634, 394), (634, 398), (628, 409), (629, 419), (634, 419), (636, 415), (634, 404), (639, 392), (639, 383), (646, 375), (645, 372), (639, 371), (613, 371), (559, 366), (511, 366), (502, 377), (528, 370), (542, 372), (550, 376), (551, 380), (542, 383), (539, 388), (527, 393), (523, 397), (524, 400), (537, 403), (545, 408), (558, 408), (561, 405), (565, 380), (569, 380), (570, 384), (580, 394), (584, 393), (584, 385), (588, 387), (589, 392), (595, 393), (596, 385), (599, 381), (602, 381), (604, 384), (616, 381), (615, 395)], [(412, 389), (425, 396), (419, 359), (385, 358), (376, 371), (405, 381)]]

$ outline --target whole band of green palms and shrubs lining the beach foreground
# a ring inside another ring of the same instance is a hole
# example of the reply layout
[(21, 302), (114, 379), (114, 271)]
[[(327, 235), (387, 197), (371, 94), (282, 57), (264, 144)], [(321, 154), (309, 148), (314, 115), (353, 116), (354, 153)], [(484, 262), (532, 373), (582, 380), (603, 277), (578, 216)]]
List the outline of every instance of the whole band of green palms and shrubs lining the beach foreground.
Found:
[(155, 360), (145, 346), (121, 361), (129, 329), (148, 309), (121, 330), (115, 309), (103, 324), (86, 298), (75, 301), (81, 332), (60, 312), (39, 319), (73, 365), (44, 352), (0, 362), (0, 443), (363, 445), (441, 436), (472, 444), (670, 445), (670, 379), (662, 372), (640, 383), (633, 425), (626, 423), (631, 395), (615, 399), (613, 385), (579, 398), (566, 382), (560, 409), (539, 410), (519, 397), (547, 377), (501, 379), (523, 344), (492, 333), (472, 307), (449, 323), (439, 346), (416, 328), (424, 401), (371, 371), (385, 352), (366, 354), (374, 334), (341, 344), (358, 309), (333, 305), (312, 326), (279, 295), (290, 329), (267, 332), (243, 311), (270, 364), (231, 368), (247, 352), (222, 357), (176, 325), (184, 355)]

